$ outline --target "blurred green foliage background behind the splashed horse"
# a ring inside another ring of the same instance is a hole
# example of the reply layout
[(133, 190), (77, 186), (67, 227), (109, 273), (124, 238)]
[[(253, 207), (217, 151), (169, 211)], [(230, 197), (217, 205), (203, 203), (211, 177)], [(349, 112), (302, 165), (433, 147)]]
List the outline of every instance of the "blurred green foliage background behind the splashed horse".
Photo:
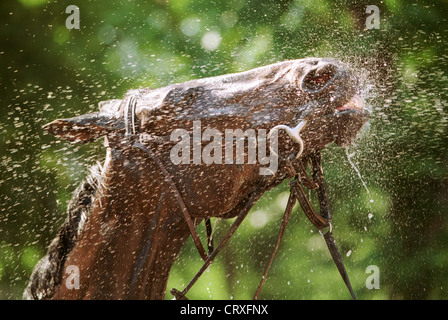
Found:
[[(68, 5), (80, 8), (79, 30), (65, 26)], [(379, 30), (365, 26), (367, 5), (380, 9)], [(370, 194), (344, 149), (324, 153), (335, 236), (355, 293), (448, 298), (446, 12), (442, 0), (2, 1), (0, 298), (21, 298), (72, 192), (104, 158), (101, 141), (59, 142), (44, 124), (96, 111), (131, 88), (309, 56), (351, 63), (372, 109), (349, 150)], [(217, 48), (204, 47), (206, 35)], [(190, 298), (252, 298), (287, 192), (283, 184), (260, 200)], [(321, 236), (294, 212), (260, 298), (350, 298)], [(230, 223), (217, 223), (216, 239)], [(189, 240), (168, 289), (182, 289), (200, 265)], [(379, 289), (366, 288), (369, 265), (380, 270)]]

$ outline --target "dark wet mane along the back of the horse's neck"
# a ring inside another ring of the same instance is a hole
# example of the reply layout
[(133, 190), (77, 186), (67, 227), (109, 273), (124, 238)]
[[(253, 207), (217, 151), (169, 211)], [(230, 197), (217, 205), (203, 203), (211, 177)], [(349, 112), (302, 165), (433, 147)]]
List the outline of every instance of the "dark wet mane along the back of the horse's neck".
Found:
[(101, 189), (102, 166), (97, 163), (89, 171), (76, 188), (67, 207), (67, 218), (48, 247), (47, 254), (34, 268), (23, 294), (24, 299), (50, 299), (61, 283), (65, 260), (78, 241), (96, 193)]

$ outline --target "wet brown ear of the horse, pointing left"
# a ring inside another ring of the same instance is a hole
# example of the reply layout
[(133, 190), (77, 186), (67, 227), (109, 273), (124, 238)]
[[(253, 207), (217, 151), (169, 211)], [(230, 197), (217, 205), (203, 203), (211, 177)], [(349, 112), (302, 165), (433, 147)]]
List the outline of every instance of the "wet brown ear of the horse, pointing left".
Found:
[(88, 113), (74, 118), (57, 119), (43, 129), (72, 142), (91, 142), (110, 132), (123, 129), (121, 121), (107, 113)]

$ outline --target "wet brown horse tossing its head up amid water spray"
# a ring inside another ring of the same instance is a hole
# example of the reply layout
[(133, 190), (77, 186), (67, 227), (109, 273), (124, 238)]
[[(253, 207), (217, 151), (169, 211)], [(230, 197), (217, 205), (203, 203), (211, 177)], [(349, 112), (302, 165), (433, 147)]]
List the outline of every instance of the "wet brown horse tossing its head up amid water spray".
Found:
[[(107, 154), (75, 192), (25, 298), (163, 299), (170, 269), (192, 228), (207, 217), (237, 216), (265, 181), (258, 162), (174, 164), (171, 133), (193, 132), (194, 121), (200, 121), (202, 132), (224, 133), (269, 132), (306, 120), (303, 145), (282, 132), (277, 152), (287, 156), (301, 148), (307, 157), (330, 142), (341, 145), (355, 137), (367, 120), (358, 90), (356, 77), (339, 62), (309, 58), (134, 90), (122, 100), (101, 103), (99, 113), (53, 121), (45, 128), (69, 141), (105, 137)], [(286, 177), (280, 160), (262, 191)], [(67, 285), (69, 266), (79, 272), (79, 287)]]

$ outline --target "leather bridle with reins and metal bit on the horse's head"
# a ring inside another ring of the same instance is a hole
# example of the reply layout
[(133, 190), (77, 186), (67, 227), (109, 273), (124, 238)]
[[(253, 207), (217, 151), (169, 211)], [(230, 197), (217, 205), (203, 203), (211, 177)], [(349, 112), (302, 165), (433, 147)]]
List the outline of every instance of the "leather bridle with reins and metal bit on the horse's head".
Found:
[[(238, 214), (237, 218), (235, 219), (234, 223), (230, 227), (230, 229), (227, 231), (224, 238), (221, 240), (219, 245), (214, 249), (213, 247), (213, 241), (212, 241), (212, 227), (210, 218), (205, 218), (205, 226), (206, 226), (206, 232), (207, 232), (207, 248), (208, 248), (208, 254), (206, 254), (204, 247), (201, 243), (201, 240), (199, 239), (199, 235), (195, 229), (194, 223), (191, 219), (191, 215), (188, 212), (188, 209), (185, 205), (185, 202), (182, 199), (182, 196), (179, 192), (179, 190), (176, 187), (176, 184), (174, 183), (172, 176), (164, 166), (163, 162), (160, 160), (160, 158), (156, 155), (156, 153), (146, 147), (141, 142), (141, 136), (136, 134), (136, 126), (135, 126), (135, 109), (136, 109), (136, 96), (132, 95), (125, 99), (123, 101), (124, 104), (124, 120), (125, 120), (125, 137), (128, 139), (132, 146), (144, 151), (159, 167), (159, 169), (162, 171), (164, 180), (168, 184), (168, 187), (173, 194), (174, 198), (178, 202), (182, 216), (185, 219), (188, 228), (190, 230), (190, 234), (193, 238), (193, 242), (204, 260), (204, 264), (201, 267), (201, 269), (196, 273), (196, 275), (193, 277), (193, 279), (190, 281), (190, 283), (185, 287), (183, 291), (179, 291), (177, 289), (172, 289), (170, 292), (174, 295), (174, 297), (178, 300), (187, 299), (186, 294), (191, 289), (191, 287), (196, 283), (196, 281), (199, 279), (199, 277), (204, 273), (204, 271), (210, 266), (210, 264), (213, 262), (214, 258), (217, 256), (219, 251), (227, 244), (227, 241), (230, 239), (230, 237), (233, 235), (233, 233), (236, 231), (236, 229), (239, 227), (239, 225), (243, 222), (247, 214), (249, 213), (252, 206), (255, 204), (255, 202), (263, 195), (266, 188), (268, 188), (276, 179), (284, 179), (284, 177), (278, 177), (278, 173), (275, 173), (272, 176), (263, 176), (262, 181), (258, 186), (255, 187), (253, 192), (248, 196), (248, 198), (245, 200), (244, 206), (241, 209), (240, 213)], [(278, 127), (278, 128), (277, 128)], [(277, 126), (277, 129), (283, 129), (281, 126)], [(297, 126), (295, 129), (297, 131), (296, 138), (301, 141), (300, 138), (300, 130), (302, 127)], [(157, 139), (154, 139), (154, 141), (157, 141)], [(290, 195), (288, 199), (288, 204), (285, 209), (285, 213), (283, 215), (282, 224), (280, 227), (280, 231), (277, 237), (277, 242), (274, 247), (274, 250), (271, 254), (271, 257), (268, 261), (268, 264), (266, 266), (265, 272), (263, 277), (261, 278), (260, 284), (257, 288), (257, 291), (255, 292), (254, 299), (258, 299), (258, 295), (261, 291), (261, 288), (264, 284), (264, 281), (266, 280), (267, 273), (269, 271), (269, 268), (272, 264), (272, 261), (275, 257), (275, 254), (277, 253), (278, 247), (280, 245), (281, 238), (284, 234), (284, 231), (286, 229), (286, 225), (288, 224), (289, 218), (291, 216), (292, 209), (296, 203), (296, 201), (299, 202), (300, 206), (302, 207), (303, 212), (307, 216), (307, 218), (310, 220), (310, 222), (319, 230), (319, 233), (324, 237), (325, 243), (327, 244), (327, 247), (330, 251), (330, 255), (333, 258), (333, 261), (336, 264), (336, 267), (346, 284), (352, 298), (355, 300), (355, 294), (353, 292), (353, 289), (350, 284), (350, 280), (347, 275), (347, 271), (345, 270), (344, 263), (342, 261), (342, 256), (339, 252), (339, 249), (336, 245), (336, 241), (333, 236), (333, 228), (331, 223), (331, 211), (330, 211), (330, 205), (328, 200), (328, 195), (326, 192), (324, 179), (323, 179), (323, 172), (322, 172), (322, 166), (321, 166), (321, 155), (319, 152), (316, 152), (309, 157), (302, 160), (300, 157), (302, 151), (303, 151), (303, 142), (300, 144), (300, 151), (296, 155), (290, 155), (288, 158), (282, 158), (282, 160), (286, 163), (286, 170), (288, 173), (288, 177), (292, 178), (292, 180), (289, 183), (290, 186)], [(308, 177), (306, 173), (306, 167), (308, 165), (308, 162), (311, 165), (312, 168), (312, 178)], [(319, 198), (319, 206), (320, 206), (320, 214), (316, 213), (314, 208), (311, 206), (305, 191), (303, 189), (304, 185), (309, 190), (316, 190)]]

